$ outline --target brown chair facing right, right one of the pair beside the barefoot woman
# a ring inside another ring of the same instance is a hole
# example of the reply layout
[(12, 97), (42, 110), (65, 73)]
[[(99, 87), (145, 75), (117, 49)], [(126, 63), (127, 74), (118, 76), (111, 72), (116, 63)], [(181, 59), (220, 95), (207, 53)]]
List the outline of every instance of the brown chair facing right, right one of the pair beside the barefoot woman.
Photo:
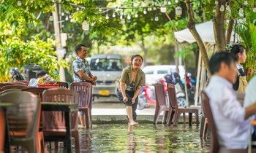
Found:
[(173, 125), (178, 125), (178, 117), (183, 114), (184, 124), (185, 121), (185, 113), (189, 113), (189, 125), (192, 125), (192, 114), (195, 114), (196, 124), (199, 125), (199, 117), (198, 117), (198, 109), (192, 109), (192, 108), (182, 108), (178, 107), (177, 98), (176, 98), (176, 90), (175, 86), (168, 84), (168, 95), (169, 95), (169, 101), (170, 101), (170, 112), (167, 117), (167, 125), (170, 125), (170, 123), (173, 120), (174, 116), (174, 122)]

